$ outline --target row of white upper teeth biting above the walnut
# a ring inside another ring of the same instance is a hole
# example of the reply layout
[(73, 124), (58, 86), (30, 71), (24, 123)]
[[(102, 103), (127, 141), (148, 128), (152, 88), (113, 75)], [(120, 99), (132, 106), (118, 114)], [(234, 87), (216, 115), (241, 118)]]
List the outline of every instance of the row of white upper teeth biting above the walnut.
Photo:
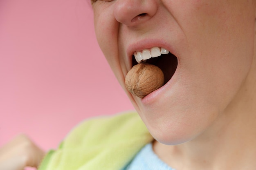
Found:
[(168, 54), (169, 51), (163, 47), (153, 47), (151, 49), (144, 49), (142, 51), (136, 51), (134, 57), (138, 63), (148, 60), (152, 57), (159, 57), (161, 54)]

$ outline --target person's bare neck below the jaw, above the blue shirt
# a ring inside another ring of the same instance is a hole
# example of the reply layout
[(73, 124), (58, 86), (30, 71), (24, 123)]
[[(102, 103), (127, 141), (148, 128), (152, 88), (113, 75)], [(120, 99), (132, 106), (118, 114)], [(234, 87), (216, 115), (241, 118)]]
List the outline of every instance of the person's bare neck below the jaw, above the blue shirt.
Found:
[(177, 170), (254, 170), (256, 166), (256, 63), (242, 88), (211, 127), (177, 146), (155, 142), (156, 154)]

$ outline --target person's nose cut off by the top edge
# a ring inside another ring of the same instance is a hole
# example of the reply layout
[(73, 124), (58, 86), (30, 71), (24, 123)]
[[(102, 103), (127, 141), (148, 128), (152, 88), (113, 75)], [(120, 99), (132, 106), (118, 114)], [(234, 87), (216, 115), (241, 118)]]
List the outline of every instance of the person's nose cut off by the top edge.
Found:
[(116, 20), (127, 26), (143, 23), (156, 12), (156, 0), (117, 0), (114, 9)]

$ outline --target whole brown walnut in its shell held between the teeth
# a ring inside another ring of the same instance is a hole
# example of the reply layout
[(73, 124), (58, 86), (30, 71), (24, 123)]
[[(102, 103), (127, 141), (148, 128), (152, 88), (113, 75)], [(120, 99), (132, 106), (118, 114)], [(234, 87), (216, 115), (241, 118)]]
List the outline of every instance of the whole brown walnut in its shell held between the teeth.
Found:
[(149, 93), (163, 86), (164, 73), (155, 65), (139, 63), (133, 66), (127, 73), (125, 84), (130, 93), (144, 98)]

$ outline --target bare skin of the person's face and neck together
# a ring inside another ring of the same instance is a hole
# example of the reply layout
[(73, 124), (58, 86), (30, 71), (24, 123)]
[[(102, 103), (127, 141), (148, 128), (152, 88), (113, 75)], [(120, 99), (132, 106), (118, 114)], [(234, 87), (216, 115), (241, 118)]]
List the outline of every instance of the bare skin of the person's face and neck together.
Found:
[[(255, 168), (255, 0), (98, 0), (92, 7), (101, 50), (163, 161), (177, 170)], [(124, 79), (132, 53), (154, 46), (177, 57), (177, 70), (140, 99)]]

